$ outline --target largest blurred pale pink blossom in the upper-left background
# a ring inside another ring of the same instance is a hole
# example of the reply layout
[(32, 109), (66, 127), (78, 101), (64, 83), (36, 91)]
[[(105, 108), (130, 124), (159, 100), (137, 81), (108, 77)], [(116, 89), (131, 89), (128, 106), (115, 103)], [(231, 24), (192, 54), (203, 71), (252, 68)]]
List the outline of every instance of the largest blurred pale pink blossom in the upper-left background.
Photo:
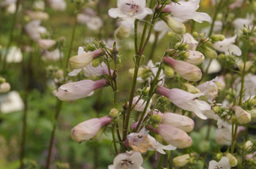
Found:
[(47, 33), (46, 28), (41, 26), (41, 21), (34, 20), (27, 23), (24, 27), (26, 34), (31, 40), (38, 41), (41, 39), (41, 34)]

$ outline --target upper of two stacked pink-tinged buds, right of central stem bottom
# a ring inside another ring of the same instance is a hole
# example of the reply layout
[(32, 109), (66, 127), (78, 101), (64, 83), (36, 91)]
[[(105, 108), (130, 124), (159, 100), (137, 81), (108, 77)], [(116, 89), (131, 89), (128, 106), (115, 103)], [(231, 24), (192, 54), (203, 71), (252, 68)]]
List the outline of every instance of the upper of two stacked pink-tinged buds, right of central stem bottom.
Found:
[(177, 115), (171, 112), (159, 113), (159, 115), (163, 119), (163, 124), (182, 129), (184, 132), (191, 132), (195, 125), (191, 118), (183, 115)]

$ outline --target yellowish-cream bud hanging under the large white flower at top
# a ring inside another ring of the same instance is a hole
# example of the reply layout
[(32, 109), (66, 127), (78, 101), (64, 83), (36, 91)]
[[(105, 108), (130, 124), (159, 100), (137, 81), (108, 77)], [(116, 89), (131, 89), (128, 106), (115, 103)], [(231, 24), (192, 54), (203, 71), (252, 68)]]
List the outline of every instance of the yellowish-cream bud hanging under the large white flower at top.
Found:
[(186, 33), (186, 26), (183, 23), (176, 21), (171, 16), (160, 15), (160, 18), (166, 22), (166, 24), (174, 31), (176, 34)]

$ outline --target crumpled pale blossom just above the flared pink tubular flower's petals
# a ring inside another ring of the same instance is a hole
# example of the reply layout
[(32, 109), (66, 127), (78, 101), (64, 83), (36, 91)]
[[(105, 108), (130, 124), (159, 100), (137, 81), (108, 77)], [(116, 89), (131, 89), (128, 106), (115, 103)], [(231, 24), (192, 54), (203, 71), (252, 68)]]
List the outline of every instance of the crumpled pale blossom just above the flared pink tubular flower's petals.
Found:
[(208, 101), (210, 103), (213, 103), (213, 100), (218, 97), (218, 85), (215, 83), (216, 81), (218, 81), (218, 77), (211, 81), (206, 81), (196, 87), (201, 91), (201, 93), (208, 96)]

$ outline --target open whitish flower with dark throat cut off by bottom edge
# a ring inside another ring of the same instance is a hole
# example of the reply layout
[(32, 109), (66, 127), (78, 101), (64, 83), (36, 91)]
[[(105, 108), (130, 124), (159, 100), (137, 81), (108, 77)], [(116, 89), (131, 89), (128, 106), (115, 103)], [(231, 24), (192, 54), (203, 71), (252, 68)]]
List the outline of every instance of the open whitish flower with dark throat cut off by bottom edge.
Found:
[(142, 168), (142, 154), (137, 151), (119, 153), (113, 163), (108, 166), (108, 169), (144, 169)]

